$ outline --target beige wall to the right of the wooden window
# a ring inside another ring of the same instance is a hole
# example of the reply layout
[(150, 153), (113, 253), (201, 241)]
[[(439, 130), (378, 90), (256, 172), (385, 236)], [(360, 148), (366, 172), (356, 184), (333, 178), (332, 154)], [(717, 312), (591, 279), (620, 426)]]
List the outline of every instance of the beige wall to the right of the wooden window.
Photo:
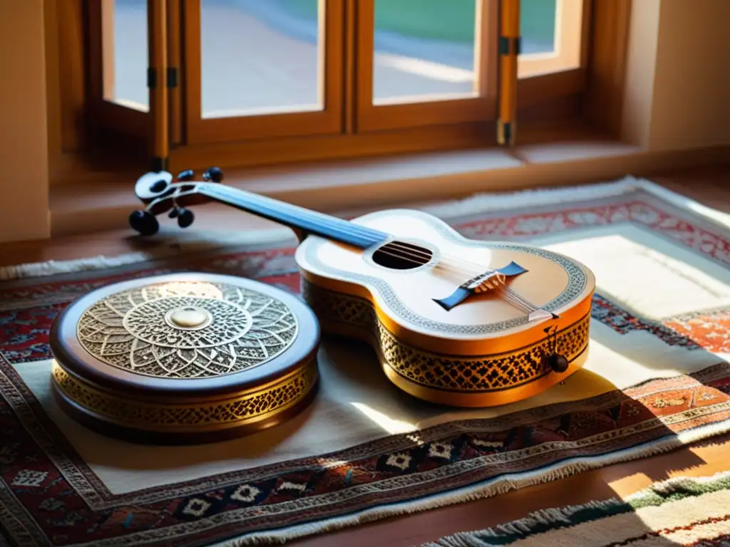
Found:
[(634, 0), (623, 136), (650, 150), (730, 145), (730, 0)]

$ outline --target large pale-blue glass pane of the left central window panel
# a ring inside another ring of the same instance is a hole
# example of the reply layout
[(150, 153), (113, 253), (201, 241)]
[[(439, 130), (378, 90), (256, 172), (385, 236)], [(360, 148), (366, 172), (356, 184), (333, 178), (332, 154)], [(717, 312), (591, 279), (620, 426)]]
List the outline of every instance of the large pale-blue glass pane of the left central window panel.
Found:
[(201, 0), (202, 115), (320, 110), (318, 0)]

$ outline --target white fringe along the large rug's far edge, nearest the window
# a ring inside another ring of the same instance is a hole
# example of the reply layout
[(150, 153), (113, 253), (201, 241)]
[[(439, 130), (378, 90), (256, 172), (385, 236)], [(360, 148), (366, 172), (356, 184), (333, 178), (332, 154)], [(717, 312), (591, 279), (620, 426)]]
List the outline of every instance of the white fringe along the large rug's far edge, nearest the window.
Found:
[[(514, 193), (476, 194), (458, 201), (445, 201), (432, 206), (423, 206), (420, 210), (447, 220), (451, 217), (496, 212), (514, 207), (548, 205), (550, 203), (556, 203), (556, 201), (568, 203), (607, 198), (636, 192), (637, 190), (645, 190), (675, 206), (690, 209), (706, 217), (707, 220), (714, 222), (723, 229), (730, 228), (730, 214), (703, 206), (647, 179), (640, 179), (630, 175), (617, 181), (602, 182), (593, 185), (520, 190)], [(168, 247), (161, 247), (147, 252), (131, 252), (113, 257), (99, 255), (81, 260), (49, 260), (41, 263), (4, 266), (0, 268), (0, 281), (70, 274), (77, 271), (103, 270), (105, 268), (143, 263), (149, 260), (189, 255), (194, 252), (213, 251), (235, 245), (283, 243), (289, 238), (293, 240), (291, 230), (288, 228), (252, 230), (250, 232), (237, 232), (233, 234), (220, 233), (216, 236), (191, 239), (189, 241), (185, 241), (183, 238), (177, 238)]]

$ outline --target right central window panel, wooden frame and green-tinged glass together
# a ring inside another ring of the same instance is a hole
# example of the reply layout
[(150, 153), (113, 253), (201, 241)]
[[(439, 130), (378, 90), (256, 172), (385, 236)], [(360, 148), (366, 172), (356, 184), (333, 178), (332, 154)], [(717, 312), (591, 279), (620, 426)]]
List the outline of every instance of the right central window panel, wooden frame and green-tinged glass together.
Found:
[(496, 118), (497, 2), (358, 3), (357, 131)]

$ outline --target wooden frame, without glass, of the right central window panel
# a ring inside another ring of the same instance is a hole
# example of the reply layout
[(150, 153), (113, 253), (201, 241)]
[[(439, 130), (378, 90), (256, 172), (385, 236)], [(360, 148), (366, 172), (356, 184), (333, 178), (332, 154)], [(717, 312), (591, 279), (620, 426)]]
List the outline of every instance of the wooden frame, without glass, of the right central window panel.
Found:
[(356, 66), (362, 68), (358, 70), (356, 81), (358, 133), (496, 120), (499, 0), (475, 2), (476, 96), (424, 98), (422, 102), (416, 102), (414, 98), (413, 102), (393, 101), (391, 104), (374, 104), (373, 101), (375, 1), (359, 0), (357, 4)]

